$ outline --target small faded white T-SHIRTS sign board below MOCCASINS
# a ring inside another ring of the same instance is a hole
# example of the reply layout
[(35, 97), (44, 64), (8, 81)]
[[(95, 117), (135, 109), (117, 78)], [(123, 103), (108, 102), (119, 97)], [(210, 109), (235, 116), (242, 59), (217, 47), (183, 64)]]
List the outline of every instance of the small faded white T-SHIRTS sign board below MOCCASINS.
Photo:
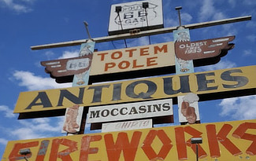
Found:
[(146, 128), (152, 128), (152, 119), (142, 119), (118, 123), (102, 123), (102, 133)]

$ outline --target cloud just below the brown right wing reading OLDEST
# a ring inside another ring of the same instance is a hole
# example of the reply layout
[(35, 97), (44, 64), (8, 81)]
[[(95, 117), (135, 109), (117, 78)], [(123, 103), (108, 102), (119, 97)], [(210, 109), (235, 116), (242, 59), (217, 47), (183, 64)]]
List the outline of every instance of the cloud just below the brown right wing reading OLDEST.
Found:
[(229, 60), (221, 60), (217, 64), (195, 68), (195, 71), (214, 71), (218, 69), (234, 68), (234, 67), (236, 67), (236, 63)]

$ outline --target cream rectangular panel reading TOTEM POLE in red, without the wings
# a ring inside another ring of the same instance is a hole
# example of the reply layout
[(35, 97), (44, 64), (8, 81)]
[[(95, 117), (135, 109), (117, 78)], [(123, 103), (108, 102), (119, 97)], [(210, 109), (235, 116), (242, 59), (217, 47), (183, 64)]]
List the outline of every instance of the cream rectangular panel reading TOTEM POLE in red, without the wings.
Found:
[(90, 75), (174, 66), (174, 53), (174, 42), (95, 52)]

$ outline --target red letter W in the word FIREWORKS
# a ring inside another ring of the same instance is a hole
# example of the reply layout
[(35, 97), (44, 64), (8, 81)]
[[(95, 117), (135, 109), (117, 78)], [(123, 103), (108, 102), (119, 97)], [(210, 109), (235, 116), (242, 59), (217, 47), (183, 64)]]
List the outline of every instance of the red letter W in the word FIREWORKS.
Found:
[(142, 132), (135, 131), (132, 134), (131, 143), (128, 141), (127, 133), (119, 133), (117, 135), (116, 144), (113, 142), (113, 134), (104, 135), (106, 152), (109, 161), (118, 161), (120, 158), (121, 151), (124, 153), (125, 161), (133, 161), (139, 145), (139, 140)]

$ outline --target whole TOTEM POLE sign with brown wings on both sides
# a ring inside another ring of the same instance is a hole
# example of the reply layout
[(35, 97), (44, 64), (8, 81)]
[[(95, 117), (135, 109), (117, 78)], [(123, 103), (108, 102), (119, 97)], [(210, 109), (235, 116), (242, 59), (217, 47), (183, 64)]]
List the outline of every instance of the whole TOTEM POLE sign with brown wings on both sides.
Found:
[[(177, 33), (175, 32), (176, 37), (179, 34), (182, 38), (186, 38), (185, 35), (189, 36), (187, 30), (178, 31), (176, 31)], [(136, 78), (145, 75), (172, 73), (175, 64), (177, 68), (176, 74), (186, 74), (194, 71), (194, 68), (192, 68), (193, 61), (195, 61), (195, 66), (217, 63), (228, 52), (228, 49), (232, 49), (234, 44), (228, 44), (228, 42), (234, 38), (235, 36), (228, 36), (196, 42), (182, 41), (182, 39), (180, 42), (176, 41), (175, 44), (174, 42), (164, 42), (150, 46), (113, 49), (95, 52), (93, 57), (90, 54), (69, 59), (46, 60), (42, 61), (41, 64), (46, 67), (46, 72), (50, 73), (50, 76), (56, 79), (57, 82), (72, 82), (73, 75), (85, 72), (89, 67), (91, 67), (90, 76), (94, 76), (94, 79), (100, 77), (98, 78), (100, 81), (109, 77), (109, 79), (113, 80), (123, 79), (124, 77)], [(83, 50), (89, 51), (91, 46), (89, 45)], [(201, 53), (193, 53), (195, 52), (194, 48), (197, 49), (196, 52), (201, 51)], [(213, 51), (214, 53), (210, 53)], [(117, 75), (120, 77), (117, 77)], [(79, 78), (77, 77), (76, 79), (79, 80)]]

